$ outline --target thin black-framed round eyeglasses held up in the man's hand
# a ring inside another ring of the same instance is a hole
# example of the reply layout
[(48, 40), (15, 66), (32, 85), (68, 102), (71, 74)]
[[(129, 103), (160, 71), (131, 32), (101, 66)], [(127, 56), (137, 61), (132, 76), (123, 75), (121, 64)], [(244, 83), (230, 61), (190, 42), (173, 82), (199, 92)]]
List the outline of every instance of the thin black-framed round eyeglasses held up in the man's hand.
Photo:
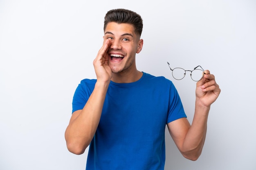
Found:
[[(167, 62), (167, 64), (168, 64), (169, 68), (171, 69), (170, 64), (168, 62)], [(198, 69), (198, 67), (200, 67), (201, 69)], [(171, 70), (172, 70), (173, 78), (175, 78), (176, 80), (181, 80), (182, 78), (184, 78), (186, 76), (186, 72), (190, 72), (190, 76), (193, 81), (200, 81), (205, 74), (204, 69), (200, 65), (195, 67), (194, 70), (192, 70), (192, 71), (184, 70), (183, 68), (174, 68)]]

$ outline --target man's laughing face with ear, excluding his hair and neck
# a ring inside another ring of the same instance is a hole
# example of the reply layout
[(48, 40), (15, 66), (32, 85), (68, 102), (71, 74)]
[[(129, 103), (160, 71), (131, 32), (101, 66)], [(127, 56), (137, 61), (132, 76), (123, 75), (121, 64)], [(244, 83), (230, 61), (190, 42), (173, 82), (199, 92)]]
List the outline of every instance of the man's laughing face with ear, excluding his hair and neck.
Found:
[(141, 51), (143, 40), (135, 34), (133, 25), (110, 22), (104, 34), (104, 42), (111, 39), (108, 49), (108, 65), (112, 72), (136, 70), (135, 54)]

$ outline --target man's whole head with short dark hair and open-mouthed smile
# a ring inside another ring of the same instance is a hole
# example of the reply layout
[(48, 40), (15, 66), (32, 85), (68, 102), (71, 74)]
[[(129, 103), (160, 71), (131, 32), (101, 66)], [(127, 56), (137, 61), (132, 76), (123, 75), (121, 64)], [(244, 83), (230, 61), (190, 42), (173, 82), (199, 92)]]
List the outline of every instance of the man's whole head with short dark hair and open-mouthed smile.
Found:
[(137, 13), (127, 9), (108, 11), (104, 20), (104, 42), (108, 47), (108, 65), (113, 73), (135, 72), (135, 55), (143, 46), (140, 39), (142, 19)]

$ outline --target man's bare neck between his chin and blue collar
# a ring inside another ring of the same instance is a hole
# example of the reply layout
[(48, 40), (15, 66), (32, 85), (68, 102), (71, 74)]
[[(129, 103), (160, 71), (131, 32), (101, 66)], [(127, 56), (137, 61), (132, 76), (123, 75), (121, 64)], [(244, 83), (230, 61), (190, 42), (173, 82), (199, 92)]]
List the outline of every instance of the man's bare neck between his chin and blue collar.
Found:
[(138, 81), (142, 75), (143, 73), (138, 70), (135, 70), (134, 72), (113, 73), (111, 81), (115, 83), (132, 83)]

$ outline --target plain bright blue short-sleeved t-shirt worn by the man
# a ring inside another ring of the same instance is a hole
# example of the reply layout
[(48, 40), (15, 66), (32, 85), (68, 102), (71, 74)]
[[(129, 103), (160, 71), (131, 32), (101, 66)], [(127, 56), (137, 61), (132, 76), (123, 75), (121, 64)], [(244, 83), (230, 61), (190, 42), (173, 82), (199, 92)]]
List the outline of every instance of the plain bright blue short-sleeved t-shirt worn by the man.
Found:
[[(84, 79), (73, 98), (83, 109), (96, 80)], [(133, 83), (110, 82), (87, 170), (164, 170), (165, 126), (186, 117), (173, 83), (143, 72)]]

